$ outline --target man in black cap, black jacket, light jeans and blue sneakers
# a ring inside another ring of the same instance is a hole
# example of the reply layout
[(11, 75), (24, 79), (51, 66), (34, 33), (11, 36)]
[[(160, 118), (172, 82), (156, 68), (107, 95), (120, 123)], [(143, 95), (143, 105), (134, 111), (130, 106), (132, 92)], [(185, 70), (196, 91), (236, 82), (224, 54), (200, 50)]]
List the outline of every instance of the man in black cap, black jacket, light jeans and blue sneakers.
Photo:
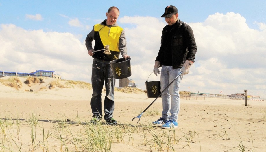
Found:
[(162, 92), (162, 117), (152, 122), (161, 128), (177, 128), (180, 109), (179, 86), (185, 74), (189, 73), (194, 63), (197, 45), (189, 25), (180, 21), (175, 6), (167, 6), (161, 17), (165, 17), (166, 25), (162, 30), (161, 46), (156, 57), (153, 72), (160, 74), (161, 92), (182, 72), (170, 87)]

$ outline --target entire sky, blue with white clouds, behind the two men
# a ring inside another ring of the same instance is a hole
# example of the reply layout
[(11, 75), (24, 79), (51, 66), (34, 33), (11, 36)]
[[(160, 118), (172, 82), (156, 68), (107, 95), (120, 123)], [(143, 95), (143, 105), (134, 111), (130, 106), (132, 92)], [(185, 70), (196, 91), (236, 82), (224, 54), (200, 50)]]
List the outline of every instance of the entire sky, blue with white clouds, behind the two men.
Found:
[(248, 95), (266, 98), (265, 0), (0, 0), (0, 71), (48, 70), (91, 83), (93, 58), (85, 38), (116, 6), (131, 57), (128, 78), (145, 90), (146, 81), (160, 80), (152, 71), (167, 25), (160, 16), (169, 5), (178, 8), (197, 43), (180, 91), (229, 95), (247, 89)]

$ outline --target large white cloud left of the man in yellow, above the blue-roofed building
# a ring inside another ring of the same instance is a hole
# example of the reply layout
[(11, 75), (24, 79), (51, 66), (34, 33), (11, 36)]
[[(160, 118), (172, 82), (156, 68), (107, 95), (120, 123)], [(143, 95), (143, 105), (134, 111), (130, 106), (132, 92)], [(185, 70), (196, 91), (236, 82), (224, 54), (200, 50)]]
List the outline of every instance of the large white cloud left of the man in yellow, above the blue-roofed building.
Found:
[[(1, 25), (0, 69), (33, 72), (52, 70), (63, 79), (88, 80), (86, 47), (71, 33), (24, 30), (15, 25)], [(14, 35), (16, 33), (16, 35)], [(82, 74), (77, 74), (82, 73)], [(71, 75), (72, 74), (72, 75)]]

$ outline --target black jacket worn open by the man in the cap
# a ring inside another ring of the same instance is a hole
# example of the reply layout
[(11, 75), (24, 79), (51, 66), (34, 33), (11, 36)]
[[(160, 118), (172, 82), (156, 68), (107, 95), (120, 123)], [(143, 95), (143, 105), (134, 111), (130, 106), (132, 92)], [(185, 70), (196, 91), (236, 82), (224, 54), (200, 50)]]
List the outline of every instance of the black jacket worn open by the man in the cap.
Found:
[[(180, 19), (176, 21), (176, 23), (171, 30), (172, 39), (171, 39), (171, 48), (172, 48), (172, 66), (173, 68), (181, 68), (186, 60), (194, 62), (195, 55), (197, 52), (197, 45), (194, 38), (193, 31), (189, 25), (182, 22)], [(162, 39), (161, 46), (158, 52), (158, 56), (155, 61), (160, 61), (163, 65), (163, 53), (165, 51), (165, 45), (167, 40), (167, 34), (171, 26), (166, 25), (162, 30)], [(168, 57), (167, 57), (168, 58)]]

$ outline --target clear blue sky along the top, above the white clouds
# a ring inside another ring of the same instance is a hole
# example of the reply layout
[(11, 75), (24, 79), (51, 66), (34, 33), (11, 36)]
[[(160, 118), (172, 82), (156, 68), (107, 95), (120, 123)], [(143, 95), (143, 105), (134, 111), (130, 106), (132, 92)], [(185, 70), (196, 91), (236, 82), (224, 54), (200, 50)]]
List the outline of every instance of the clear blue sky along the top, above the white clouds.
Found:
[[(186, 22), (203, 22), (210, 14), (217, 12), (239, 13), (246, 19), (250, 28), (258, 28), (254, 22), (266, 22), (266, 1), (257, 0), (204, 0), (204, 1), (0, 1), (1, 23), (15, 24), (26, 30), (43, 29), (43, 31), (80, 32), (80, 28), (66, 26), (69, 19), (79, 19), (84, 25), (94, 25), (105, 19), (106, 10), (117, 6), (121, 16), (160, 17), (165, 6), (169, 4), (178, 8), (180, 17)], [(25, 15), (41, 14), (42, 20), (26, 19)], [(65, 17), (63, 17), (65, 16)]]

